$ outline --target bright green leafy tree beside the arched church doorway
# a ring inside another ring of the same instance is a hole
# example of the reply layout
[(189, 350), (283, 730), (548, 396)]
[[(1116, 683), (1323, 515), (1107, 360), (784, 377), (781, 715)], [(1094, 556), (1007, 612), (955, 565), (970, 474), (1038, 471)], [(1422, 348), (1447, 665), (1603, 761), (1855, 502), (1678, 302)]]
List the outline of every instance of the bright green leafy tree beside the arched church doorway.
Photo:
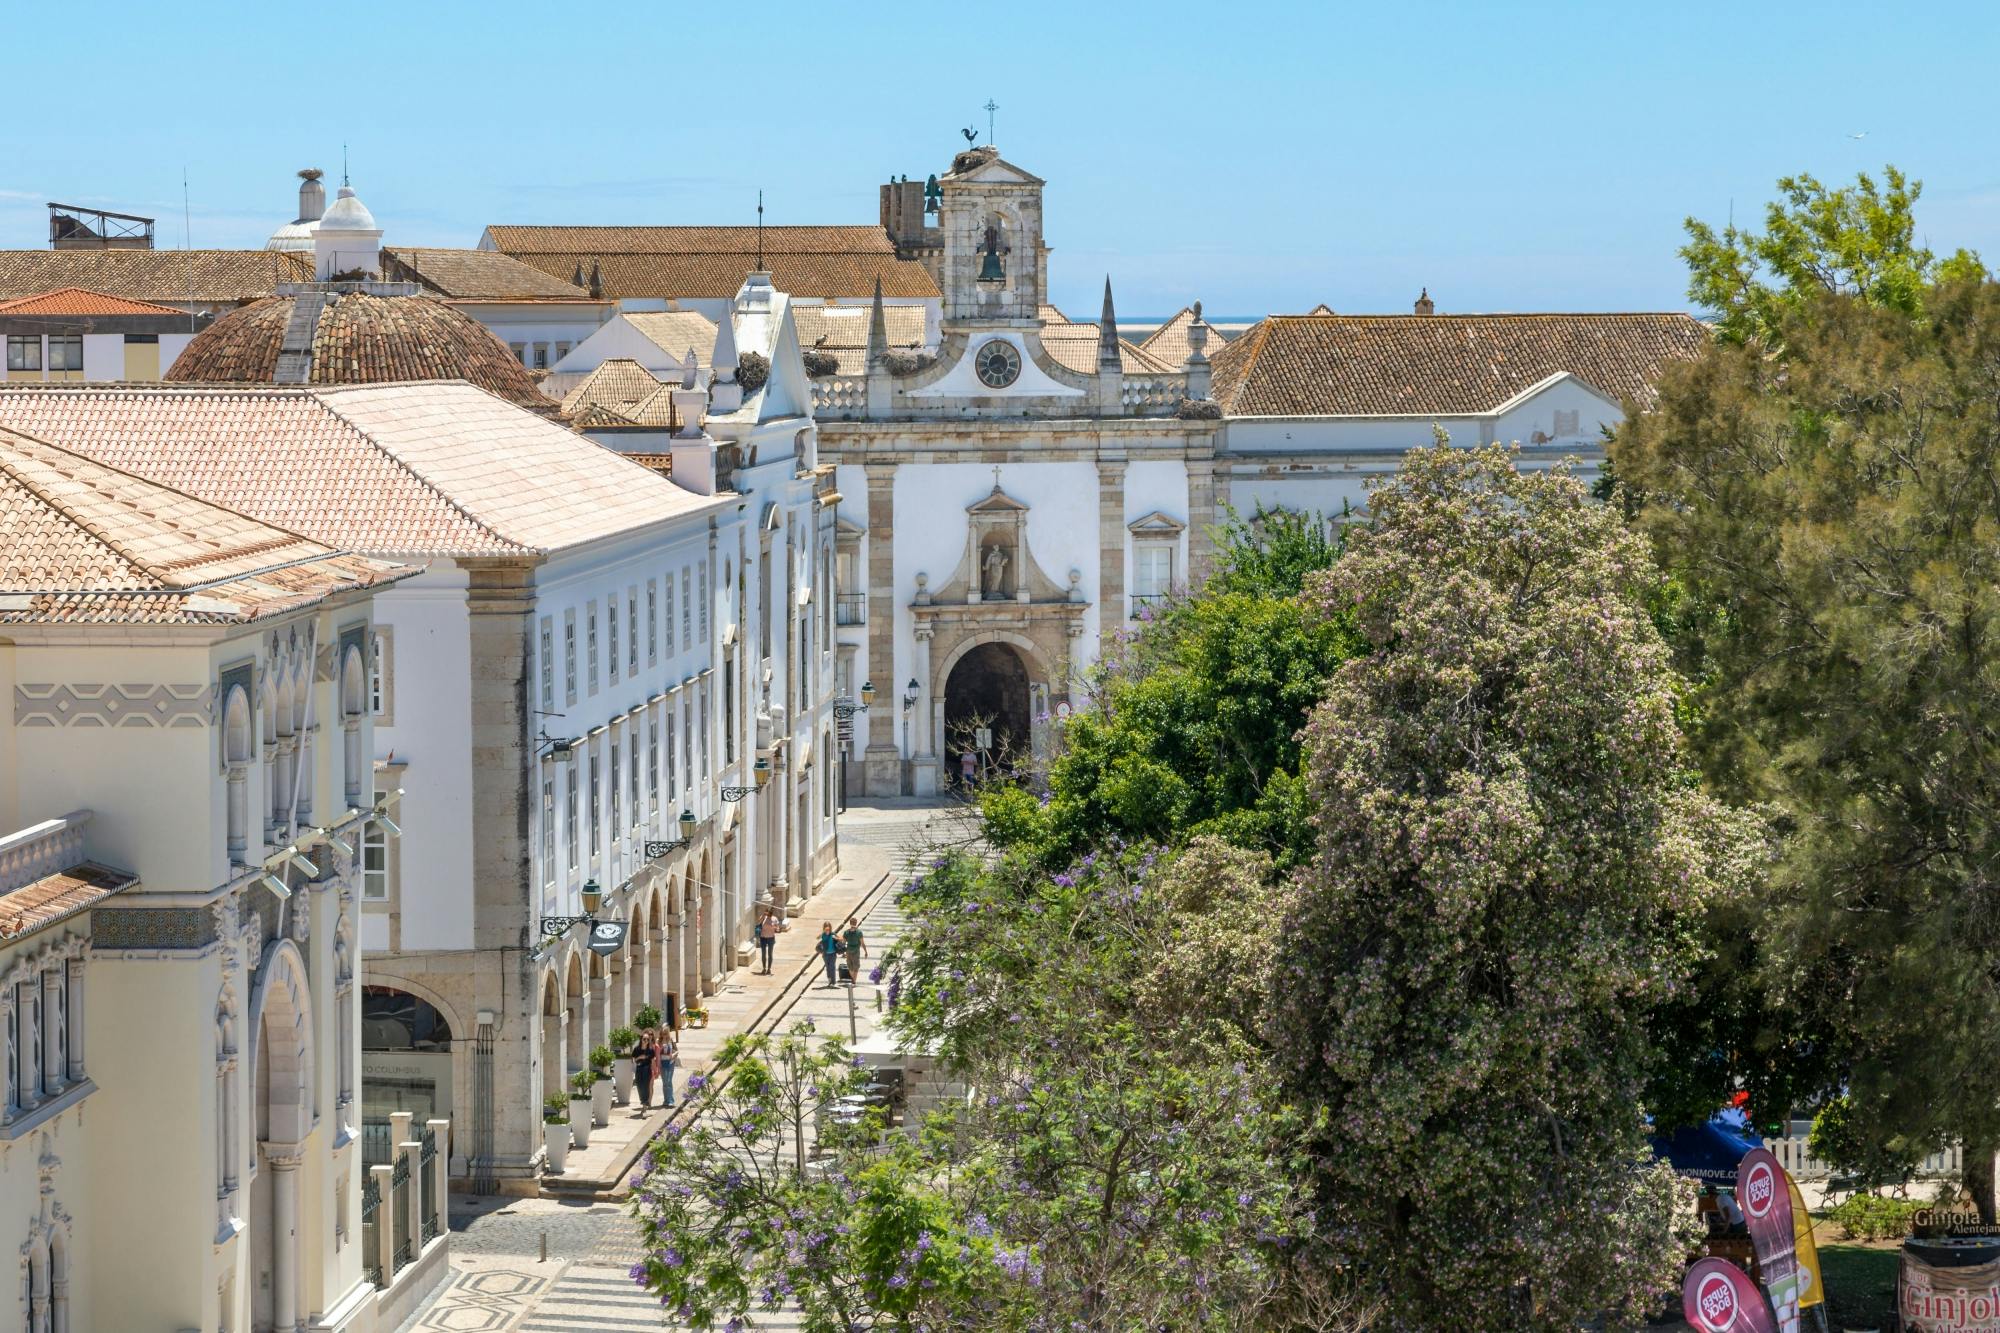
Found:
[(1260, 512), (1218, 534), (1216, 572), (1106, 646), (1064, 725), (1048, 801), (994, 789), (988, 837), (1060, 869), (1106, 839), (1218, 835), (1290, 867), (1310, 849), (1298, 729), (1356, 650), (1298, 590), (1338, 546), (1318, 516)]

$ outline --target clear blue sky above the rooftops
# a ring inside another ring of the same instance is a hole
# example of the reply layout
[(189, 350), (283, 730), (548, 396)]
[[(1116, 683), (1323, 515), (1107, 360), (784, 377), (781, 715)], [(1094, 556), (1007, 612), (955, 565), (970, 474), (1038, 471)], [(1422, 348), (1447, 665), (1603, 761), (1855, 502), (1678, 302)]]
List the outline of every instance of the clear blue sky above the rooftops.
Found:
[[(924, 18), (914, 18), (922, 14)], [(908, 18), (906, 18), (908, 16)], [(254, 246), (300, 166), (390, 242), (488, 222), (872, 222), (1000, 104), (1052, 288), (1122, 314), (1658, 310), (1686, 214), (1896, 162), (2000, 258), (2000, 6), (18, 4), (0, 246), (44, 200)], [(1866, 134), (1866, 138), (1850, 138)]]

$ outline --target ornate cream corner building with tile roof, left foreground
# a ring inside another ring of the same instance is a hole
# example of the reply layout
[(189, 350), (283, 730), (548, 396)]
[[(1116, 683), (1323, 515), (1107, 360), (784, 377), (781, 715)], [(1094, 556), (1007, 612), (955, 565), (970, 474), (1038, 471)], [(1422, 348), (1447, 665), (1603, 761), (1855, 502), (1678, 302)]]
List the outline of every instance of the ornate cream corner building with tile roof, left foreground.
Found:
[(364, 652), (408, 570), (6, 428), (0, 488), (0, 1323), (392, 1329), (446, 1245), (448, 1125), (400, 1127), (402, 1183), (358, 1135)]

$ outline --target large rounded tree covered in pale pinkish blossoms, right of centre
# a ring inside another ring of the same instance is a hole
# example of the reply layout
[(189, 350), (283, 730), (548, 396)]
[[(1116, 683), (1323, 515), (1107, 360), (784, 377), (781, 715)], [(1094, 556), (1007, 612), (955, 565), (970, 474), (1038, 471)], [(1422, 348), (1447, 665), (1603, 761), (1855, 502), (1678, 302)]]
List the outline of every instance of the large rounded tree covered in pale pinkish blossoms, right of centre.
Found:
[(1324, 1117), (1336, 1259), (1394, 1327), (1632, 1321), (1678, 1281), (1650, 1015), (1760, 843), (1692, 781), (1654, 580), (1574, 476), (1440, 436), (1316, 582), (1376, 648), (1308, 727), (1268, 1023)]

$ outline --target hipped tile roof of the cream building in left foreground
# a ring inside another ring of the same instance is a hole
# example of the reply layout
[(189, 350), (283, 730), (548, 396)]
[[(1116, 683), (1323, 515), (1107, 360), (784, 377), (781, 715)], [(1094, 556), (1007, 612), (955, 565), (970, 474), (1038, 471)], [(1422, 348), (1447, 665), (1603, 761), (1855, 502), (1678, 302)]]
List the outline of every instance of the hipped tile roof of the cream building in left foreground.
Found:
[(0, 428), (0, 622), (228, 622), (416, 570)]

